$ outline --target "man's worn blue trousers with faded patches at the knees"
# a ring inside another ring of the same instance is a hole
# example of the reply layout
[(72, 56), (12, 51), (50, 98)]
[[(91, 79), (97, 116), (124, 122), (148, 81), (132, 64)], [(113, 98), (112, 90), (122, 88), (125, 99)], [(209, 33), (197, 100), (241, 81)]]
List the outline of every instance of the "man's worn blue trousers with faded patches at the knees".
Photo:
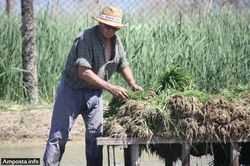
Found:
[(65, 150), (69, 132), (79, 114), (85, 122), (85, 152), (87, 166), (102, 166), (102, 148), (96, 137), (103, 132), (101, 90), (72, 89), (61, 80), (57, 89), (51, 129), (46, 145), (44, 166), (58, 166)]

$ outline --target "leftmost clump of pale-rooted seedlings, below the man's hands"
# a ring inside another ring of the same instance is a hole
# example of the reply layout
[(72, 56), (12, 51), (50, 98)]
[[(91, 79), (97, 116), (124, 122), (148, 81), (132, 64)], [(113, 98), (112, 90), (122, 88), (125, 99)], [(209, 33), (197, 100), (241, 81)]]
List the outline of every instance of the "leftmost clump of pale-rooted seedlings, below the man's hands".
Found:
[[(108, 123), (115, 120), (125, 129), (127, 136), (151, 138), (154, 136), (171, 136), (170, 116), (165, 110), (154, 107), (147, 101), (127, 100), (120, 106), (115, 116), (109, 118)], [(105, 131), (114, 129), (114, 124), (106, 125)]]

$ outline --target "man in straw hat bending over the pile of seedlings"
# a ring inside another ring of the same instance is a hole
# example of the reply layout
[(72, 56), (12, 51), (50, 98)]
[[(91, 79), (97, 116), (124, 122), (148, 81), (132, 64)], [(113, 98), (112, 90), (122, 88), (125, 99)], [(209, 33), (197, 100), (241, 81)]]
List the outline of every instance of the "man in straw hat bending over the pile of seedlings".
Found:
[(79, 114), (86, 126), (87, 166), (102, 165), (102, 149), (96, 137), (103, 131), (101, 94), (107, 90), (127, 99), (127, 90), (107, 82), (114, 71), (121, 73), (132, 90), (142, 90), (133, 78), (122, 43), (115, 32), (123, 27), (122, 11), (104, 7), (94, 18), (99, 25), (85, 30), (75, 39), (69, 53), (54, 104), (44, 165), (57, 166), (65, 150), (69, 131)]

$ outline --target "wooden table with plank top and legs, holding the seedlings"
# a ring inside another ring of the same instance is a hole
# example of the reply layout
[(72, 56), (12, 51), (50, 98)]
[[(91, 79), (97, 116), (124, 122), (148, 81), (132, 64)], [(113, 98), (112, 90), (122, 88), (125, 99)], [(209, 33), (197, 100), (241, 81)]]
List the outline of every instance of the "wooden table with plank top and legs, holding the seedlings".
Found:
[[(250, 142), (250, 139), (230, 139), (219, 142), (216, 140), (193, 140), (192, 143), (230, 143), (230, 166), (239, 166), (239, 143)], [(97, 145), (106, 146), (108, 153), (108, 166), (111, 165), (110, 149), (113, 153), (113, 165), (116, 165), (115, 161), (115, 146), (121, 146), (124, 149), (124, 164), (125, 166), (140, 166), (140, 144), (182, 144), (181, 162), (182, 166), (190, 165), (190, 148), (191, 144), (183, 139), (178, 138), (161, 138), (153, 137), (150, 140), (140, 138), (109, 138), (99, 137), (97, 138)]]

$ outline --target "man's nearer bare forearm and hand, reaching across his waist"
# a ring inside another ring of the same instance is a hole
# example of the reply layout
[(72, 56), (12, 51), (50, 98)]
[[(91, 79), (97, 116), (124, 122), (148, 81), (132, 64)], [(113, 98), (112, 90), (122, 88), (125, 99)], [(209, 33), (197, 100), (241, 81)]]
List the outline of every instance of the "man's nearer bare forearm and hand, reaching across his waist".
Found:
[(86, 81), (92, 87), (105, 89), (114, 96), (120, 97), (122, 99), (128, 98), (127, 90), (125, 88), (110, 84), (107, 81), (101, 79), (91, 70), (91, 68), (79, 66), (78, 73), (79, 73), (79, 78)]

